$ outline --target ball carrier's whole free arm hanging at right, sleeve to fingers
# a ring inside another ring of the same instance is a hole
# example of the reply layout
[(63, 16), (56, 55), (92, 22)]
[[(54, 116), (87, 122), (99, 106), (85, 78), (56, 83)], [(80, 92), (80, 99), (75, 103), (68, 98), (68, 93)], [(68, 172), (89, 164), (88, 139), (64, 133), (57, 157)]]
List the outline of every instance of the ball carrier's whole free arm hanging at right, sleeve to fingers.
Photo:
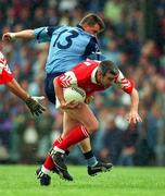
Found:
[(115, 78), (115, 83), (119, 88), (122, 88), (125, 93), (127, 93), (130, 96), (131, 106), (130, 106), (129, 114), (127, 117), (128, 122), (129, 123), (141, 122), (142, 120), (138, 113), (139, 94), (138, 90), (135, 88), (134, 82), (127, 79), (119, 71), (119, 74)]

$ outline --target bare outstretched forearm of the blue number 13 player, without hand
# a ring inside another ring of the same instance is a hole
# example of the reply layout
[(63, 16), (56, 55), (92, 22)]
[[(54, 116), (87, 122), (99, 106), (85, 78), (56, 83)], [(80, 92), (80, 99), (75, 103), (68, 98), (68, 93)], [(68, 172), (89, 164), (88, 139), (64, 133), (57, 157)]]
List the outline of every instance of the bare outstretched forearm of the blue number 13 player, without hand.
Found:
[(35, 38), (33, 29), (26, 29), (17, 33), (12, 33), (13, 38), (33, 39)]

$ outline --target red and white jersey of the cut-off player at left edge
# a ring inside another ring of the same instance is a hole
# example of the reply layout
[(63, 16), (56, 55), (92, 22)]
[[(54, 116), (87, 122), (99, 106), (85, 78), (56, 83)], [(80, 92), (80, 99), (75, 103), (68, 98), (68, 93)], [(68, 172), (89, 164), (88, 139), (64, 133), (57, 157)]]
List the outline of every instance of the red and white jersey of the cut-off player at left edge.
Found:
[(0, 85), (5, 84), (14, 78), (14, 75), (10, 71), (7, 60), (0, 52)]

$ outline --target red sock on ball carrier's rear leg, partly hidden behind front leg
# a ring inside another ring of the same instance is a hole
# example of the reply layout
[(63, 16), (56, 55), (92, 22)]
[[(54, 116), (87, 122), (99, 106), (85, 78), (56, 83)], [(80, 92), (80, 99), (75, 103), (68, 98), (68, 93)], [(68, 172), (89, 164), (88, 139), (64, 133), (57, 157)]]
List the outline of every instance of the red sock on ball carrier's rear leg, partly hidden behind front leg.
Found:
[[(60, 136), (54, 143), (53, 143), (53, 147), (59, 145), (61, 142), (62, 142), (62, 137)], [(43, 167), (47, 169), (47, 170), (50, 170), (52, 171), (53, 168), (55, 167), (54, 162), (52, 161), (52, 158), (51, 156), (48, 156), (43, 162)]]

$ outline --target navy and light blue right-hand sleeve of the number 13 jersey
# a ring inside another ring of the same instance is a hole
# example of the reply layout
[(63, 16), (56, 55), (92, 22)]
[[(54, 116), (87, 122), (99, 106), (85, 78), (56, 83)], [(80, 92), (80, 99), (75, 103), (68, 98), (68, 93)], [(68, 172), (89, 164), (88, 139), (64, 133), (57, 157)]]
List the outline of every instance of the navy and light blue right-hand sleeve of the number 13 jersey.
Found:
[(85, 56), (90, 60), (103, 61), (105, 56), (100, 52), (99, 45), (96, 37), (92, 37), (86, 47)]

